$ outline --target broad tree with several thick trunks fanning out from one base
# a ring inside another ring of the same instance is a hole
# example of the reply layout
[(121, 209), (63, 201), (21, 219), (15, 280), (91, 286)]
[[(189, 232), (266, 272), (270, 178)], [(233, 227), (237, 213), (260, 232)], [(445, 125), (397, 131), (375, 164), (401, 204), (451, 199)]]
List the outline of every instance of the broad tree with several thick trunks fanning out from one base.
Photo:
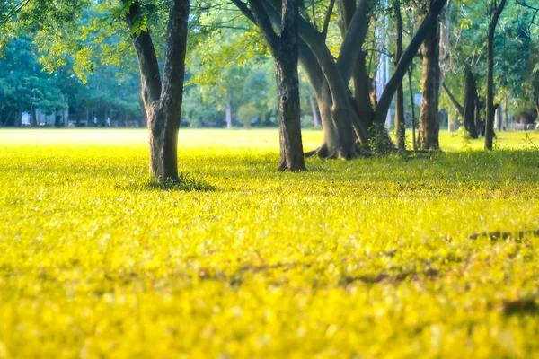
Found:
[[(280, 3), (276, 0), (261, 1), (265, 4), (264, 9), (271, 22), (280, 26)], [(306, 11), (299, 17), (299, 62), (315, 91), (324, 134), (323, 144), (307, 154), (346, 159), (356, 157), (357, 144), (367, 145), (371, 137), (389, 138), (384, 133), (384, 122), (393, 94), (402, 83), (408, 66), (429, 31), (429, 24), (437, 20), (437, 14), (443, 9), (446, 0), (434, 1), (430, 13), (426, 14), (410, 44), (403, 51), (376, 108), (370, 101), (370, 80), (362, 49), (374, 4), (369, 0), (361, 0), (358, 5), (354, 0), (339, 2), (344, 21), (340, 24), (343, 39), (337, 60), (326, 43), (333, 4), (330, 1), (325, 8), (322, 31), (318, 31), (314, 19), (310, 19)], [(353, 94), (348, 87), (352, 78)], [(373, 127), (375, 129), (370, 131)], [(377, 136), (378, 132), (382, 132), (382, 136)]]

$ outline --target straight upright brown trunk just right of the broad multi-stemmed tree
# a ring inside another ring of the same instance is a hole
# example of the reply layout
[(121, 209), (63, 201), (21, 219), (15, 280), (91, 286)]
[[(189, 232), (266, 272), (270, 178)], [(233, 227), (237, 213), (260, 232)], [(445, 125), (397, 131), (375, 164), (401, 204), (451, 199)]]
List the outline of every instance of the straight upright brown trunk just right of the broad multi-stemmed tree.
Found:
[[(432, 0), (431, 0), (432, 4)], [(439, 23), (432, 23), (427, 36), (423, 41), (421, 52), (423, 55), (423, 83), (422, 101), (420, 110), (420, 148), (423, 150), (437, 150), (439, 148)]]

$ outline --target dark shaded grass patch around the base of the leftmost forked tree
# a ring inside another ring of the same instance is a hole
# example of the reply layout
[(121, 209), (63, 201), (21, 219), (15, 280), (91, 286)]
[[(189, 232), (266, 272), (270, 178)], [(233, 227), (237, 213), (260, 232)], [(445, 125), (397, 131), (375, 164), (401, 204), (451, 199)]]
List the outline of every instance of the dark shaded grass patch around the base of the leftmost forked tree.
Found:
[(119, 183), (114, 186), (117, 189), (131, 191), (170, 191), (170, 192), (213, 192), (217, 188), (205, 180), (197, 179), (189, 173), (181, 173), (177, 180), (132, 180), (128, 183)]

